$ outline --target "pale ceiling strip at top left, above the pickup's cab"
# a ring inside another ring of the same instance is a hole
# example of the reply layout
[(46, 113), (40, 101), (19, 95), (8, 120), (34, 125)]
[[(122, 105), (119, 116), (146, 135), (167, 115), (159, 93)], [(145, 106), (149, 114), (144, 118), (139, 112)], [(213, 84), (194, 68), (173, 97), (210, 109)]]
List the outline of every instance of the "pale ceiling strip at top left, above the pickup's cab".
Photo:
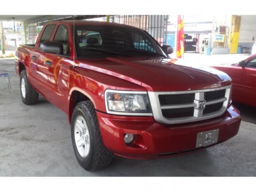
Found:
[[(66, 19), (87, 19), (103, 17), (105, 15), (51, 15), (52, 20), (66, 20)], [(1, 22), (25, 22), (31, 23), (44, 23), (49, 21), (49, 15), (0, 15)]]

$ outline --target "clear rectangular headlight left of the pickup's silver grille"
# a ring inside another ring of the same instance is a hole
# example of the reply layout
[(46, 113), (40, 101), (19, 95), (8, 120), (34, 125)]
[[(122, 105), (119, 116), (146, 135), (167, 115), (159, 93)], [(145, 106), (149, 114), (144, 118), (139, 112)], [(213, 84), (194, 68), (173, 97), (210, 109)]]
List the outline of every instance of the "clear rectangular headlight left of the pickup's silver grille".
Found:
[(152, 116), (147, 92), (106, 90), (105, 104), (111, 114)]

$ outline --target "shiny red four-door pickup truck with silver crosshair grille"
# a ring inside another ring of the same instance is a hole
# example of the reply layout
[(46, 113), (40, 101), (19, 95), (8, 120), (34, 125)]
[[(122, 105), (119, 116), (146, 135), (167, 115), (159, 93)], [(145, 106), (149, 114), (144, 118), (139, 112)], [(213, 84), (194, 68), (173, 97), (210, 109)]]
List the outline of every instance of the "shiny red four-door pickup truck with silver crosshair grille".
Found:
[(50, 22), (17, 48), (15, 69), (22, 101), (39, 93), (67, 113), (76, 158), (95, 170), (113, 155), (176, 156), (238, 133), (230, 77), (175, 65), (172, 52), (131, 26)]

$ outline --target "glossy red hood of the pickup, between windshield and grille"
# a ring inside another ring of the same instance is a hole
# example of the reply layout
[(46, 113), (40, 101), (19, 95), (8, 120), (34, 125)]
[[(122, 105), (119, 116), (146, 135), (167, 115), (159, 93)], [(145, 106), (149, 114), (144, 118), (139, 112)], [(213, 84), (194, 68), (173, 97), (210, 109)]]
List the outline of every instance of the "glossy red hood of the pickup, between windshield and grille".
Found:
[(188, 91), (231, 84), (230, 77), (213, 68), (191, 68), (166, 58), (105, 58), (79, 60), (78, 67), (112, 75), (147, 91)]

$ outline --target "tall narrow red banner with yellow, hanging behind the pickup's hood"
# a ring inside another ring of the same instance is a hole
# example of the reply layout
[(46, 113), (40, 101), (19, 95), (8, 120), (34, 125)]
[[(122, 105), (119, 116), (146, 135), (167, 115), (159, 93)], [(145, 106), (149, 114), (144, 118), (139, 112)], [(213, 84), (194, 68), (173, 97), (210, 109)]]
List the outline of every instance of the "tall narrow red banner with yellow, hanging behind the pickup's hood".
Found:
[(176, 36), (176, 57), (184, 57), (184, 22), (183, 16), (178, 15), (177, 36)]

